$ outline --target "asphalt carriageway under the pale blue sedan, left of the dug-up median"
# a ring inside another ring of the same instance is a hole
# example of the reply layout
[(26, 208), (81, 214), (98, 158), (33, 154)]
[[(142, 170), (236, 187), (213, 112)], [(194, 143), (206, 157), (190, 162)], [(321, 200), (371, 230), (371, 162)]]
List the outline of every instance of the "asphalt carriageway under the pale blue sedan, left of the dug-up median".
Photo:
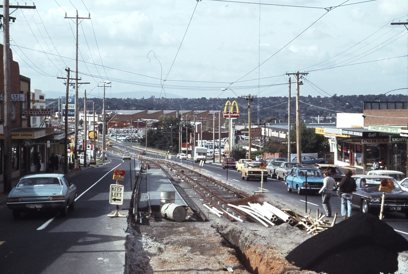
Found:
[(39, 212), (14, 220), (6, 205), (0, 208), (1, 273), (123, 273), (127, 218), (107, 217), (116, 208), (109, 204), (109, 189), (115, 183), (112, 169), (124, 169), (125, 199), (119, 207), (129, 208), (131, 174), (129, 161), (109, 157), (110, 163), (70, 180), (78, 197), (67, 217)]

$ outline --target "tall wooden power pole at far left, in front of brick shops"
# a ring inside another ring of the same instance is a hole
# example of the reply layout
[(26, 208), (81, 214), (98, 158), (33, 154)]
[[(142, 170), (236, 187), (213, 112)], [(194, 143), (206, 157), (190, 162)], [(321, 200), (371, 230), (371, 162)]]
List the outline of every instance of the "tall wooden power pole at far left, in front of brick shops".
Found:
[(9, 15), (9, 8), (12, 9), (35, 9), (36, 6), (10, 6), (9, 0), (4, 0), (3, 8), (3, 67), (4, 67), (4, 154), (3, 154), (3, 192), (8, 194), (12, 189), (12, 159), (11, 159), (11, 68), (10, 68), (10, 24), (9, 21), (15, 22), (16, 18)]

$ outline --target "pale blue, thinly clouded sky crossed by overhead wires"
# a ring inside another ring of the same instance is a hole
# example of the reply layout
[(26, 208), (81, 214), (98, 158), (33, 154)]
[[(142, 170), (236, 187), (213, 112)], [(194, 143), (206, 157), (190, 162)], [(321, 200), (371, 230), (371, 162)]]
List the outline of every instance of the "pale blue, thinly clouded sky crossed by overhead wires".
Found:
[(48, 98), (65, 95), (66, 67), (75, 78), (77, 11), (80, 97), (105, 81), (106, 97), (288, 96), (296, 72), (302, 96), (408, 93), (408, 30), (391, 25), (406, 0), (25, 3), (10, 9), (13, 59)]

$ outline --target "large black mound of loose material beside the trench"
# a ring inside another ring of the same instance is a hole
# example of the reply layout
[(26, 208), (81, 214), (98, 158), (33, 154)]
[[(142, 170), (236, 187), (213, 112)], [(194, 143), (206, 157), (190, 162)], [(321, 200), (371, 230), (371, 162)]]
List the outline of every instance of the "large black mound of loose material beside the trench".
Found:
[(357, 214), (307, 239), (286, 259), (329, 274), (394, 273), (408, 241), (371, 214)]

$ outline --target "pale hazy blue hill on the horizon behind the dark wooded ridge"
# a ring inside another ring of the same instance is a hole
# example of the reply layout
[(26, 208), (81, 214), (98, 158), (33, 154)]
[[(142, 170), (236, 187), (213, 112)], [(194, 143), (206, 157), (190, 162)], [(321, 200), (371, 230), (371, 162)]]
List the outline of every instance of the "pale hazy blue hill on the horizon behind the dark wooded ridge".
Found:
[[(65, 92), (60, 92), (60, 91), (43, 91), (45, 94), (45, 98), (47, 99), (56, 99), (58, 97), (65, 97)], [(79, 92), (79, 97), (83, 97), (83, 90)], [(95, 97), (93, 94), (95, 92), (92, 92), (90, 97)], [(70, 93), (70, 96), (72, 93)], [(106, 98), (135, 98), (135, 99), (141, 99), (141, 98), (149, 98), (151, 96), (154, 96), (156, 98), (161, 98), (161, 97), (166, 97), (166, 98), (183, 98), (182, 96), (168, 93), (166, 94), (164, 92), (150, 92), (150, 91), (128, 91), (128, 92), (116, 92), (116, 93), (111, 93), (111, 92), (106, 92), (105, 97)]]

